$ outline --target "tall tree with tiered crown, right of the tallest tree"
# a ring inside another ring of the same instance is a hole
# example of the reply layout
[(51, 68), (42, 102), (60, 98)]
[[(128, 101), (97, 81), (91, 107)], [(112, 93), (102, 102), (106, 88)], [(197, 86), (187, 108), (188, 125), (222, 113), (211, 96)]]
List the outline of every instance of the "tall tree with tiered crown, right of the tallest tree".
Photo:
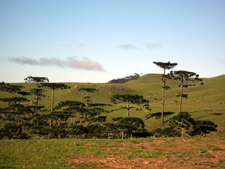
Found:
[(171, 71), (164, 77), (169, 78), (169, 79), (174, 79), (174, 80), (179, 80), (181, 82), (180, 84), (180, 94), (177, 95), (177, 97), (180, 97), (180, 105), (179, 105), (179, 112), (181, 112), (181, 107), (182, 107), (182, 98), (188, 97), (188, 94), (183, 93), (183, 88), (188, 87), (188, 85), (185, 85), (185, 81), (191, 81), (191, 82), (197, 82), (197, 81), (202, 81), (202, 79), (199, 79), (199, 75), (196, 74), (195, 72), (188, 72), (185, 70), (179, 70), (179, 71)]

